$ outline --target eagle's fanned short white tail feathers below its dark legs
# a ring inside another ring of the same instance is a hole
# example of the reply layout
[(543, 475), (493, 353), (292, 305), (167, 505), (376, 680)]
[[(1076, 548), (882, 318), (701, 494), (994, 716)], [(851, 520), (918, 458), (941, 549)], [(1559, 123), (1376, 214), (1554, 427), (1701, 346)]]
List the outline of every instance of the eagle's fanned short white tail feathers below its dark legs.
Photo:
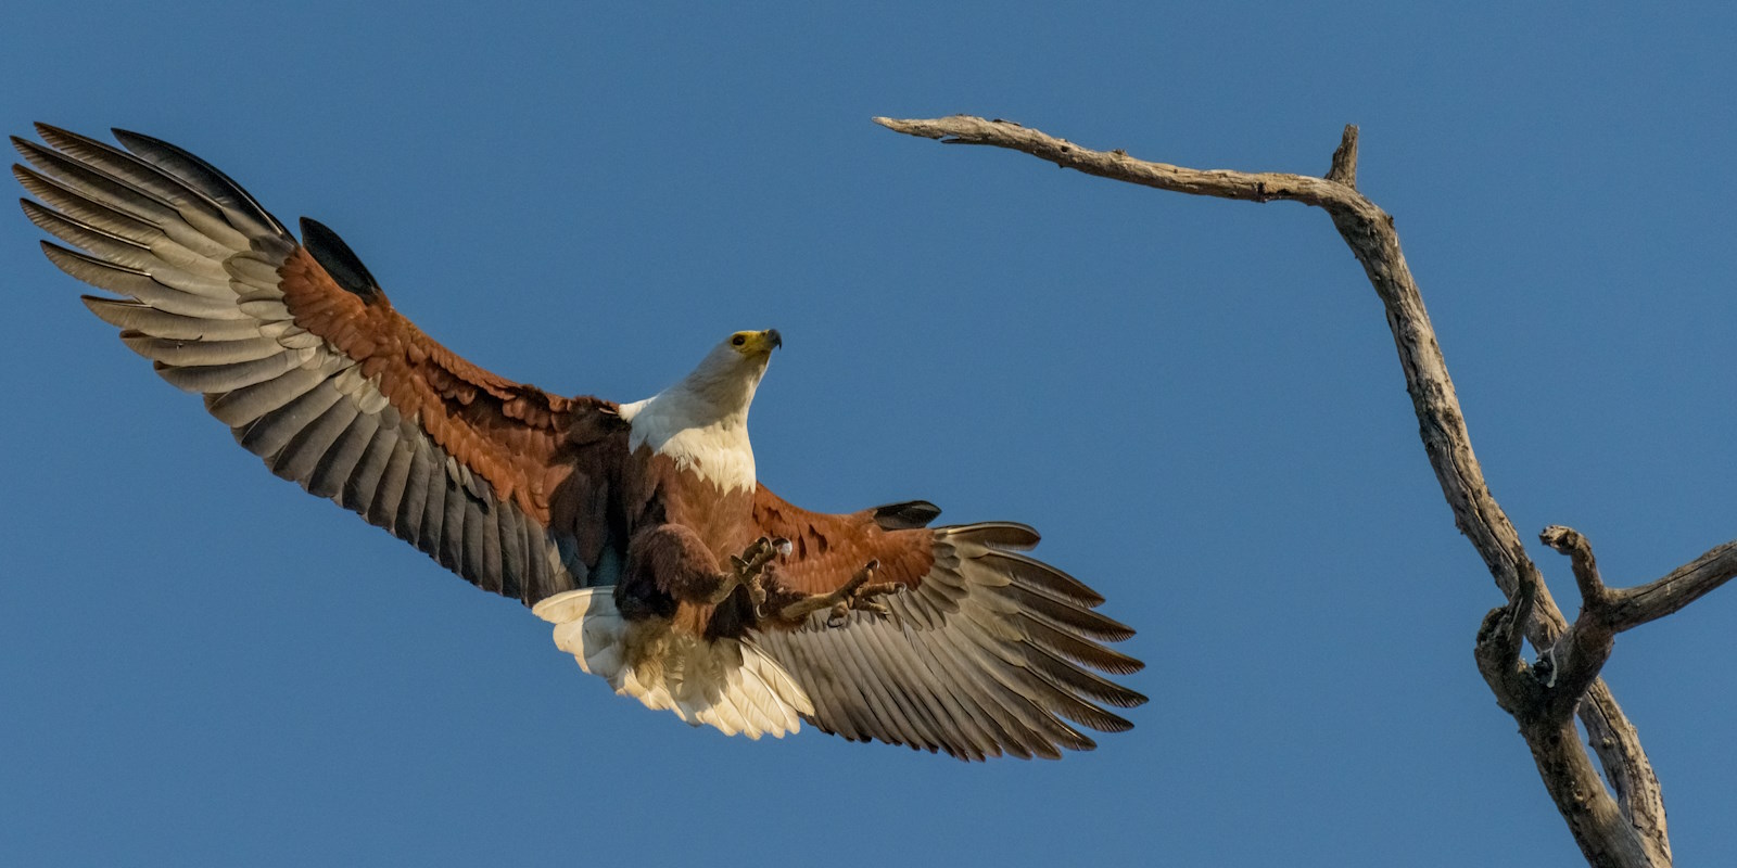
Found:
[(667, 621), (627, 621), (615, 609), (615, 589), (556, 594), (535, 608), (554, 623), (554, 644), (622, 696), (651, 710), (670, 710), (688, 724), (733, 736), (783, 738), (815, 713), (796, 679), (754, 642), (698, 639)]

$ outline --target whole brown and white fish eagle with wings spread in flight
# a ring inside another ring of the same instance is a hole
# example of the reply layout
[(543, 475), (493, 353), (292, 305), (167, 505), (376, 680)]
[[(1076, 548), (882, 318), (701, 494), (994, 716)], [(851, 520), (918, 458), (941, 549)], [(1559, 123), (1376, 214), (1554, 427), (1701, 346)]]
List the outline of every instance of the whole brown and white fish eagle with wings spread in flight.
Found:
[[(754, 474), (747, 417), (776, 330), (617, 404), (459, 358), (400, 316), (349, 245), (301, 241), (158, 139), (14, 137), (21, 200), (85, 306), (271, 472), (552, 621), (617, 693), (728, 734), (809, 720), (961, 759), (1089, 750), (1145, 696), (1103, 674), (1133, 630), (1023, 550), (1032, 528), (931, 528), (914, 500), (846, 516)], [(76, 248), (76, 250), (73, 250)]]

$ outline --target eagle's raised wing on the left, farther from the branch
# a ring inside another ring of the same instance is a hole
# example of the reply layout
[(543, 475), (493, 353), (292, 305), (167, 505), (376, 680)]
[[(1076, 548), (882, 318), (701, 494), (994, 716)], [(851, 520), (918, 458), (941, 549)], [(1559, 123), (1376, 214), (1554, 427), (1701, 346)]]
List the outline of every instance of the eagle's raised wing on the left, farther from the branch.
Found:
[[(122, 340), (266, 460), (485, 590), (535, 602), (584, 587), (608, 547), (599, 491), (624, 450), (615, 406), (488, 373), (400, 316), (344, 241), (302, 243), (203, 160), (115, 130), (14, 137), (40, 200), (24, 214), (78, 250), (68, 274)], [(558, 528), (554, 531), (552, 528)]]

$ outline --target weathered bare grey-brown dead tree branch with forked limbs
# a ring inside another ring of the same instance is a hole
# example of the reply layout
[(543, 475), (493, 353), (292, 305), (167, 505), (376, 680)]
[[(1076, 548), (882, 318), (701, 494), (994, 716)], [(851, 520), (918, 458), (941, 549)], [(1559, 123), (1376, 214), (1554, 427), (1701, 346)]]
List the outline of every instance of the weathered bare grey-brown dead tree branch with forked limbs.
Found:
[[(1659, 779), (1635, 726), (1598, 672), (1610, 656), (1615, 634), (1671, 615), (1737, 576), (1737, 542), (1720, 545), (1648, 585), (1612, 590), (1600, 580), (1584, 536), (1569, 528), (1546, 528), (1542, 540), (1570, 556), (1584, 601), (1574, 625), (1569, 625), (1537, 566), (1527, 557), (1513, 523), (1483, 483), (1454, 380), (1447, 375), (1423, 295), (1400, 252), (1393, 217), (1357, 191), (1357, 127), (1344, 128), (1327, 175), (1308, 177), (1152, 163), (1124, 151), (1079, 148), (1018, 123), (966, 115), (875, 118), (875, 123), (947, 144), (1009, 148), (1063, 168), (1172, 193), (1285, 200), (1324, 208), (1386, 307), (1424, 453), (1454, 510), (1454, 524), (1508, 597), (1508, 604), (1492, 609), (1478, 630), (1478, 670), (1496, 693), (1497, 705), (1520, 724), (1539, 776), (1586, 861), (1624, 868), (1671, 865)], [(1522, 639), (1542, 649), (1539, 665), (1522, 660)], [(1579, 745), (1575, 712), (1608, 776), (1608, 790)]]

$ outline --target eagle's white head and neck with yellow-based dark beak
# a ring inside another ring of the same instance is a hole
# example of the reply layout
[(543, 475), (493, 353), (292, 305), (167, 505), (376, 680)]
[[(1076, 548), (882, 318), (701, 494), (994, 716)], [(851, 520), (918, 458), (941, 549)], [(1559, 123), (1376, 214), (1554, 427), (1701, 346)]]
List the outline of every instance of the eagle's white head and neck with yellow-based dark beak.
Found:
[(776, 328), (736, 332), (712, 347), (676, 385), (620, 406), (632, 431), (627, 448), (669, 455), (719, 488), (754, 488), (749, 404), (766, 375), (771, 351), (783, 345)]

